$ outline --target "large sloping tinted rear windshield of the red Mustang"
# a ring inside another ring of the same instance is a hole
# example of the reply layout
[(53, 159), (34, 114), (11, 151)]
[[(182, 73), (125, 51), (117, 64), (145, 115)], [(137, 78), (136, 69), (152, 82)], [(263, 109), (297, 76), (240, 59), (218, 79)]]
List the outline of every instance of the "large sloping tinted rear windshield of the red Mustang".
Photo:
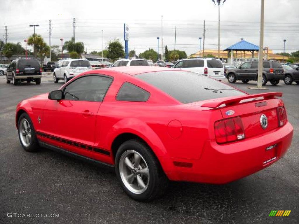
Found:
[(159, 71), (135, 75), (181, 103), (191, 103), (245, 93), (207, 76), (187, 71)]

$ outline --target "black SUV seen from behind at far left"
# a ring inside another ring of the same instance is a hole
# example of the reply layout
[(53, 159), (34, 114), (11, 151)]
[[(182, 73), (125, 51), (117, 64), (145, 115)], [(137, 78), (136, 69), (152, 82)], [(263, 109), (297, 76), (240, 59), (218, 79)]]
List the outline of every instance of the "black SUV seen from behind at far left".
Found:
[(6, 83), (13, 81), (13, 85), (18, 82), (34, 81), (36, 85), (40, 84), (42, 78), (42, 69), (36, 59), (16, 59), (13, 60), (6, 70)]

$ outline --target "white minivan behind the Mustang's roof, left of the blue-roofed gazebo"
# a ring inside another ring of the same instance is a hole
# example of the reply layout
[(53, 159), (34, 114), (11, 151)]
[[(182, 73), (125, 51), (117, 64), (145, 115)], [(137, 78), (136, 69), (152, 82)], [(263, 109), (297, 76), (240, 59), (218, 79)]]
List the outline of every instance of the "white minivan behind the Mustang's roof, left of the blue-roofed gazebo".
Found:
[(183, 59), (174, 65), (175, 69), (183, 69), (198, 74), (202, 74), (213, 79), (224, 80), (224, 66), (219, 59), (195, 58)]

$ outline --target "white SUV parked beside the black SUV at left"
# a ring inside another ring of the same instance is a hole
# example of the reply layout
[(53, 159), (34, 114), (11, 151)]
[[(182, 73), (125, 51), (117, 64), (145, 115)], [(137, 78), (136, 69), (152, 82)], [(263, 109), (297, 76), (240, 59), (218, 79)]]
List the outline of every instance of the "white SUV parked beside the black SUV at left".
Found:
[(86, 59), (65, 59), (58, 62), (58, 66), (54, 69), (53, 81), (57, 83), (62, 79), (64, 83), (71, 78), (85, 71), (92, 70), (91, 65)]

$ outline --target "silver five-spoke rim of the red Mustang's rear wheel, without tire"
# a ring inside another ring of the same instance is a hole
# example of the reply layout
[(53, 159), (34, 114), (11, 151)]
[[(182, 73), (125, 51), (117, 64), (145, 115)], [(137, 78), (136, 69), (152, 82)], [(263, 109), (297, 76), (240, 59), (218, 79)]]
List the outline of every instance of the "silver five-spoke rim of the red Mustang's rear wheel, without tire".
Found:
[(144, 158), (135, 150), (125, 151), (119, 160), (123, 184), (134, 194), (141, 194), (149, 185), (149, 170)]

